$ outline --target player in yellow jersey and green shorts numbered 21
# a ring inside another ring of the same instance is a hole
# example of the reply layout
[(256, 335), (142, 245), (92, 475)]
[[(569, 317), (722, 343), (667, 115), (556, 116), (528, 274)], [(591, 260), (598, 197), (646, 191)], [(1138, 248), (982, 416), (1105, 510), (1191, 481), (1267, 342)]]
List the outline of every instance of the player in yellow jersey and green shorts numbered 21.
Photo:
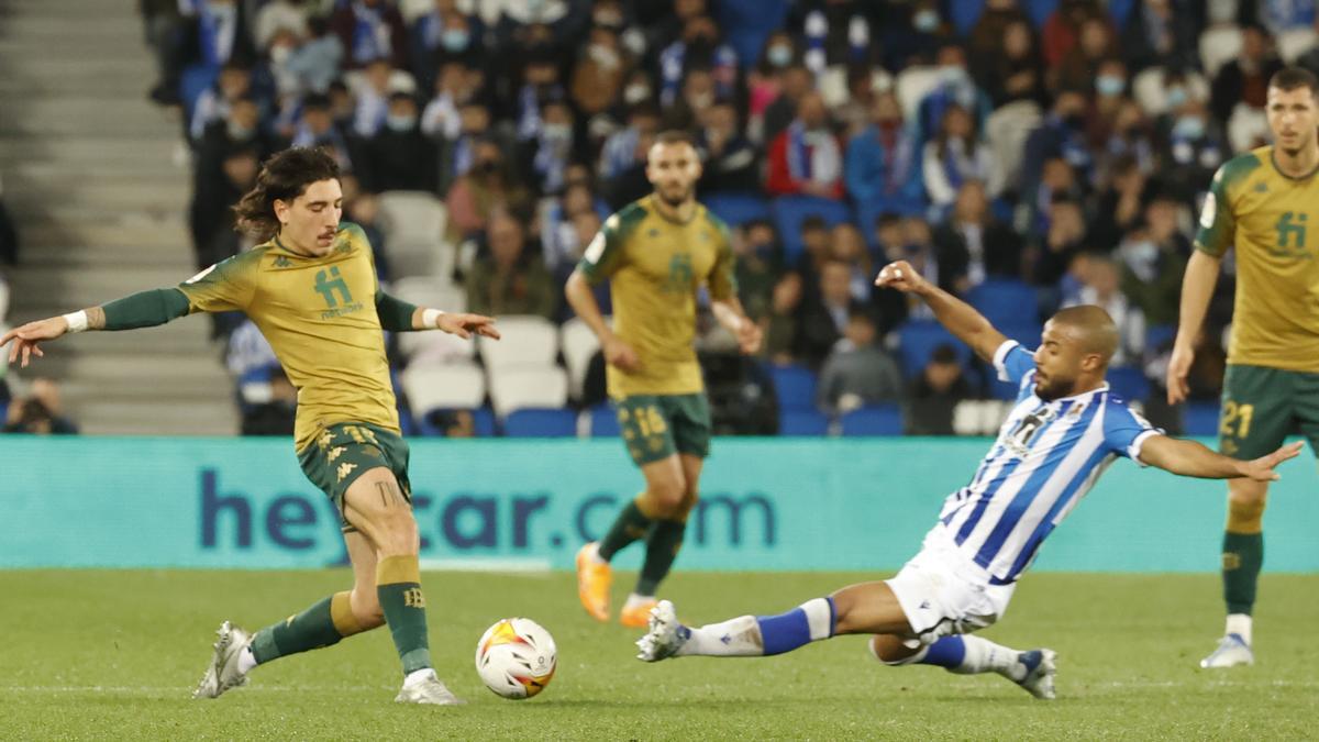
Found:
[[(1195, 335), (1219, 267), (1236, 248), (1237, 285), (1223, 379), (1220, 450), (1256, 458), (1299, 429), (1319, 446), (1319, 83), (1289, 67), (1269, 81), (1274, 144), (1233, 157), (1213, 176), (1182, 280), (1167, 399), (1187, 395)], [(1314, 217), (1311, 219), (1310, 217)], [(1314, 239), (1311, 239), (1314, 238)], [(1200, 667), (1252, 664), (1250, 610), (1264, 562), (1268, 482), (1228, 481), (1223, 536), (1224, 638)]]

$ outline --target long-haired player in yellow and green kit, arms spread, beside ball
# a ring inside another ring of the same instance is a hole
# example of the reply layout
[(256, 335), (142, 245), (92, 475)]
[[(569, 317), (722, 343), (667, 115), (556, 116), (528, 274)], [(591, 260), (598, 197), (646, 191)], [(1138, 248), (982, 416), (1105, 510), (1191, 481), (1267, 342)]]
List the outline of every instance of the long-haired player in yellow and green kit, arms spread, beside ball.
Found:
[(40, 342), (83, 330), (150, 327), (195, 312), (245, 312), (298, 388), (295, 448), (307, 478), (343, 516), (352, 590), (335, 593), (256, 634), (224, 622), (195, 698), (247, 683), (257, 664), (327, 647), (389, 624), (404, 669), (400, 702), (460, 702), (431, 668), (408, 445), (381, 330), (439, 329), (499, 338), (493, 321), (445, 314), (390, 297), (376, 280), (360, 227), (340, 223), (339, 168), (328, 154), (272, 157), (235, 207), (239, 227), (265, 240), (174, 288), (132, 294), (17, 327), (9, 360), (42, 355)]

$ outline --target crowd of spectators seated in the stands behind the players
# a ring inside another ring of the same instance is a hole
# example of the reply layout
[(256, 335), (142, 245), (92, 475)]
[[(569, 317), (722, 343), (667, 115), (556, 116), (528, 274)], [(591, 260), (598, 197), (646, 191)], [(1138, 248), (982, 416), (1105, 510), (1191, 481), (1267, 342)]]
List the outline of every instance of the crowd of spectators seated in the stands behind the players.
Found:
[[(959, 399), (993, 396), (992, 374), (952, 347), (902, 359), (904, 329), (930, 317), (872, 289), (880, 265), (909, 260), (968, 298), (1026, 288), (1028, 342), (1055, 309), (1099, 304), (1121, 329), (1117, 364), (1145, 380), (1136, 396), (1157, 400), (1210, 180), (1265, 143), (1283, 57), (1319, 70), (1314, 4), (1282, 0), (142, 8), (150, 95), (182, 107), (194, 153), (198, 265), (251, 247), (228, 207), (265, 156), (324, 147), (384, 280), (418, 275), (377, 197), (425, 191), (445, 205), (452, 259), (421, 277), (475, 312), (563, 322), (567, 273), (601, 219), (649, 191), (654, 135), (683, 128), (704, 160), (700, 198), (733, 227), (765, 366), (818, 374), (828, 413), (933, 411), (909, 415), (913, 432), (947, 432)], [(1194, 399), (1216, 399), (1232, 290), (1229, 259)]]

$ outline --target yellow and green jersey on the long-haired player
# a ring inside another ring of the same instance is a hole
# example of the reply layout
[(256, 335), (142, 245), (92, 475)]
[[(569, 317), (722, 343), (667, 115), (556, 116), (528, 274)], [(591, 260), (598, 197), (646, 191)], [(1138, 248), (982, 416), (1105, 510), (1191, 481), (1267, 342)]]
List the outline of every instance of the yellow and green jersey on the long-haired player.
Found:
[(298, 388), (298, 450), (338, 422), (398, 433), (398, 411), (376, 313), (376, 268), (361, 227), (344, 223), (323, 257), (280, 238), (181, 284), (189, 312), (245, 312)]

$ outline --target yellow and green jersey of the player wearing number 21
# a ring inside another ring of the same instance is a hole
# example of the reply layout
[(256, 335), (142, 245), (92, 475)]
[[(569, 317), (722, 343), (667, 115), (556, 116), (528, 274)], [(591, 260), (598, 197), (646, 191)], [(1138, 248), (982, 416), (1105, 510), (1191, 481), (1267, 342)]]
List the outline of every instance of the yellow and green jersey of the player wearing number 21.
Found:
[(1228, 363), (1319, 371), (1319, 170), (1282, 174), (1273, 147), (1233, 157), (1213, 176), (1195, 247), (1236, 248)]

